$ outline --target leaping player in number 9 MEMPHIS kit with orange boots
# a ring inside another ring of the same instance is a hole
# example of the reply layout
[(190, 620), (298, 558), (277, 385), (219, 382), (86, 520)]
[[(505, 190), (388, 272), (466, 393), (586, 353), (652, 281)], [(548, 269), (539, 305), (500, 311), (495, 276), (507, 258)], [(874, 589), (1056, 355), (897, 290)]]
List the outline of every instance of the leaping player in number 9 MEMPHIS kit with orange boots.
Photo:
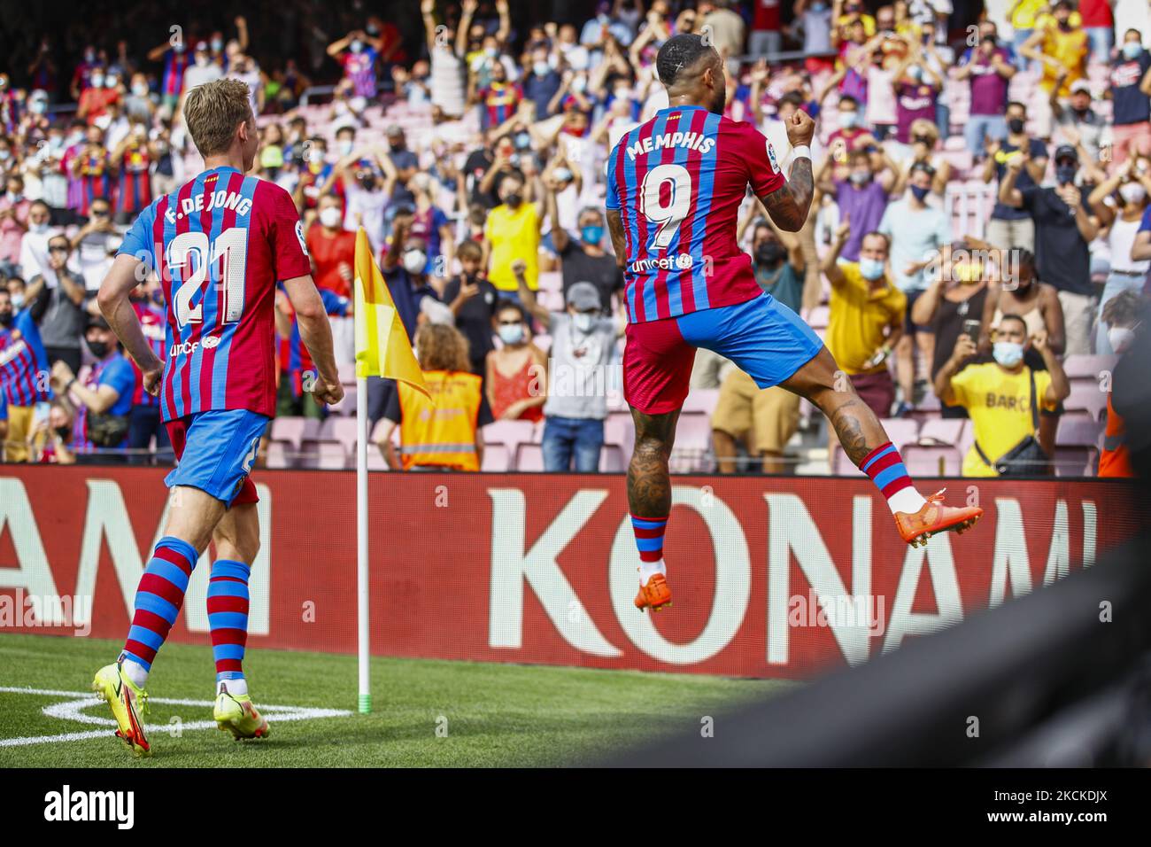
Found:
[(732, 360), (761, 388), (782, 385), (817, 406), (847, 455), (879, 487), (908, 544), (962, 531), (983, 511), (923, 498), (879, 421), (839, 375), (818, 336), (755, 281), (735, 243), (748, 183), (780, 229), (796, 232), (811, 204), (808, 144), (815, 122), (787, 121), (795, 148), (790, 179), (750, 123), (723, 118), (719, 54), (699, 35), (668, 39), (656, 56), (669, 107), (627, 133), (608, 157), (608, 225), (624, 269), (627, 346), (624, 395), (635, 422), (627, 499), (640, 552), (635, 606), (671, 602), (663, 536), (671, 511), (668, 459), (695, 348)]

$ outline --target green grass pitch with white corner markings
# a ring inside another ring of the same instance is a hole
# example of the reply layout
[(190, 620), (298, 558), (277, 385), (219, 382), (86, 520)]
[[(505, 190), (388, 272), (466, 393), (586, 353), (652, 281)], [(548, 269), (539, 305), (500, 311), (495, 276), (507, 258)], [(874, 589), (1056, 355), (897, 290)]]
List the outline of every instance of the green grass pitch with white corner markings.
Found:
[[(2, 767), (298, 767), (548, 766), (580, 764), (607, 753), (701, 726), (740, 702), (782, 691), (775, 680), (599, 671), (429, 659), (372, 659), (371, 714), (356, 713), (355, 656), (249, 651), (245, 671), (258, 708), (343, 710), (300, 720), (268, 711), (270, 738), (236, 742), (192, 728), (212, 720), (208, 646), (167, 644), (148, 679), (145, 721), (153, 756), (136, 759), (112, 728), (82, 723), (110, 718), (102, 702), (76, 704), (92, 675), (121, 644), (97, 638), (0, 635)], [(93, 696), (94, 695), (90, 695)], [(73, 703), (71, 706), (68, 704)], [(45, 713), (45, 710), (55, 714)], [(76, 718), (81, 718), (77, 720)], [(178, 718), (177, 723), (173, 723)], [(29, 743), (62, 734), (99, 733)], [(23, 740), (13, 743), (13, 740)]]

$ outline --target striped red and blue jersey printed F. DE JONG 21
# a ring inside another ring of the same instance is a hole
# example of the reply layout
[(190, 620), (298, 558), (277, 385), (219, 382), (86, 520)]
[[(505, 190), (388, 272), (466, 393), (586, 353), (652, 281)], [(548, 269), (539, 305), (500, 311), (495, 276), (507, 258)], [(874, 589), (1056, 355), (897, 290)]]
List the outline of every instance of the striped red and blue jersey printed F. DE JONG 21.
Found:
[(275, 414), (275, 283), (311, 273), (291, 195), (233, 167), (157, 198), (120, 254), (147, 263), (167, 311), (160, 414)]

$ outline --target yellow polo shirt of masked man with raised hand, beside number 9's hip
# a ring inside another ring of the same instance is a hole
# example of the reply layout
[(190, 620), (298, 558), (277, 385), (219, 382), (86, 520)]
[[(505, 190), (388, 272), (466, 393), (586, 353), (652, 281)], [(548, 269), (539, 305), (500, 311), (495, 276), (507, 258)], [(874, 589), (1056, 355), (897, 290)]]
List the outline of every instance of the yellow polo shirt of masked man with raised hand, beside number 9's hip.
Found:
[(868, 368), (868, 360), (886, 342), (885, 328), (904, 323), (907, 296), (891, 282), (871, 290), (857, 262), (840, 262), (839, 270), (844, 282), (831, 287), (824, 341), (845, 373), (877, 373), (887, 365)]

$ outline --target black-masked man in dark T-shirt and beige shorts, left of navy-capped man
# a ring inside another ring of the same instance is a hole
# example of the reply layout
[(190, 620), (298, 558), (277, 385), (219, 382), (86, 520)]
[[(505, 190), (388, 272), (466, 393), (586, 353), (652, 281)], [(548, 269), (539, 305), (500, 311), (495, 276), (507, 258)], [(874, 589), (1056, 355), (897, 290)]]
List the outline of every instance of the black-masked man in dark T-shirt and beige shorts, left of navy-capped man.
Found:
[[(1007, 138), (985, 138), (988, 158), (983, 162), (983, 181), (997, 180), (1003, 184), (1007, 167), (1020, 162), (1015, 187), (1020, 190), (1034, 188), (1043, 182), (1047, 169), (1047, 148), (1038, 138), (1027, 134), (1027, 107), (1022, 103), (1007, 104)], [(1019, 247), (1035, 249), (1035, 222), (1023, 209), (1016, 209), (997, 201), (988, 221), (988, 241), (996, 247), (1009, 249)]]

